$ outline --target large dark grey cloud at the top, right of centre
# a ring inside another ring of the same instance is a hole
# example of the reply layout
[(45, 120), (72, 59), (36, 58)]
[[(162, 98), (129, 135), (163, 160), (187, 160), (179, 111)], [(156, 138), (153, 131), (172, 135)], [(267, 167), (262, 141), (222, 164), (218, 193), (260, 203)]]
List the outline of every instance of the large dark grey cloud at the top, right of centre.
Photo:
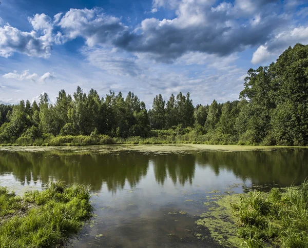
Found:
[[(216, 7), (215, 2), (154, 1), (153, 7), (175, 9), (177, 17), (144, 19), (138, 32), (118, 38), (115, 46), (167, 63), (187, 52), (225, 56), (263, 44), (286, 22), (284, 15), (275, 13), (271, 5), (275, 1), (223, 2)], [(252, 13), (247, 21), (247, 14)]]

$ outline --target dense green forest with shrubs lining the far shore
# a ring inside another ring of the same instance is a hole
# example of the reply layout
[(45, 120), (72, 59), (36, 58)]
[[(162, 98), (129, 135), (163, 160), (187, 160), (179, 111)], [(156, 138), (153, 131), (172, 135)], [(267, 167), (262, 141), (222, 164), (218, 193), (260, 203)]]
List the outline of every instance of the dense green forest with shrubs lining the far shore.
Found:
[(194, 107), (189, 93), (162, 95), (147, 110), (129, 92), (105, 98), (78, 87), (38, 102), (0, 105), (3, 145), (214, 143), (308, 145), (308, 45), (289, 47), (269, 66), (249, 69), (239, 100)]

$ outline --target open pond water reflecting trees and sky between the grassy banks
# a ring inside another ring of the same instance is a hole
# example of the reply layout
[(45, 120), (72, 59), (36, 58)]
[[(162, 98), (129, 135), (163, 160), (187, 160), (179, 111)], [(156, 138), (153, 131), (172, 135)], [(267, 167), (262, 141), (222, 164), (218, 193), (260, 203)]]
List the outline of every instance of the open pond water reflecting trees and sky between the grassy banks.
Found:
[(18, 194), (58, 179), (91, 184), (94, 217), (70, 247), (217, 247), (195, 224), (207, 211), (204, 202), (215, 194), (299, 184), (307, 176), (306, 149), (0, 151), (0, 185)]

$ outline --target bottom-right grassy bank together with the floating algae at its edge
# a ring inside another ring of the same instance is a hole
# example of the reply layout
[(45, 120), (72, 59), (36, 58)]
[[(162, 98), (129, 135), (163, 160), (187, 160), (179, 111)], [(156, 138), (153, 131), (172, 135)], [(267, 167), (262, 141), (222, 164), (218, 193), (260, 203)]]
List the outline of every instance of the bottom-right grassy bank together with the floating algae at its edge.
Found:
[(213, 204), (197, 224), (225, 247), (307, 247), (307, 182), (270, 193), (222, 196)]

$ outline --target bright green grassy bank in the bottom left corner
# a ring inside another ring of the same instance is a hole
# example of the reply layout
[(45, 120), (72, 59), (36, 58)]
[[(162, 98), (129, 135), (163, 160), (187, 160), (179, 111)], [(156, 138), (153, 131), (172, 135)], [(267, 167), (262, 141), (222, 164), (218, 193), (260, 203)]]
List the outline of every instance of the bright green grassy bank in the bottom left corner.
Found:
[(0, 187), (0, 247), (62, 244), (91, 216), (89, 188), (52, 182), (43, 192), (24, 197)]

